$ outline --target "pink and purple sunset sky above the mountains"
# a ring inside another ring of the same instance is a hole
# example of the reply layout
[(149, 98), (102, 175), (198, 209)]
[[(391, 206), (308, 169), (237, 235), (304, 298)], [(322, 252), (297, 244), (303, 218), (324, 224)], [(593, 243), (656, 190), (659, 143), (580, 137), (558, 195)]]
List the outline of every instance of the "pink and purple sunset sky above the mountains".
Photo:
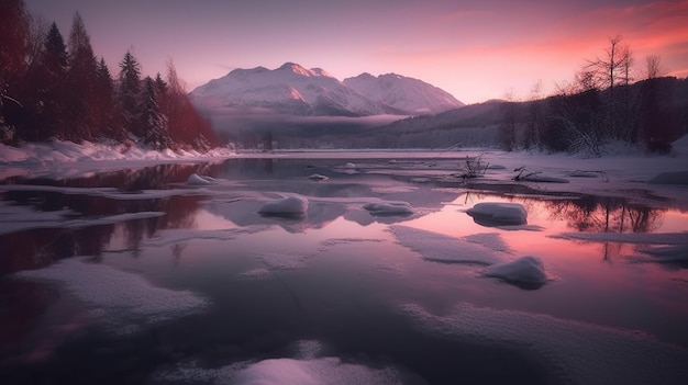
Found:
[(688, 76), (688, 0), (24, 0), (65, 38), (79, 11), (113, 75), (127, 49), (145, 75), (173, 59), (188, 89), (234, 68), (321, 67), (418, 78), (465, 103), (528, 98), (573, 79), (622, 35), (640, 71), (659, 55)]

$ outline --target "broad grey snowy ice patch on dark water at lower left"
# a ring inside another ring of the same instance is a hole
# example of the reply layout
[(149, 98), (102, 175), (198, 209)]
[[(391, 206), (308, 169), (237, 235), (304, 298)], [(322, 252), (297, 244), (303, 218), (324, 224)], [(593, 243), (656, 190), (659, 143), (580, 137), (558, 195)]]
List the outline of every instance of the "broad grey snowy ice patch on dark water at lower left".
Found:
[(91, 307), (91, 316), (111, 325), (119, 333), (135, 331), (133, 325), (155, 324), (208, 306), (208, 302), (195, 293), (156, 287), (138, 275), (80, 258), (14, 275), (60, 283)]

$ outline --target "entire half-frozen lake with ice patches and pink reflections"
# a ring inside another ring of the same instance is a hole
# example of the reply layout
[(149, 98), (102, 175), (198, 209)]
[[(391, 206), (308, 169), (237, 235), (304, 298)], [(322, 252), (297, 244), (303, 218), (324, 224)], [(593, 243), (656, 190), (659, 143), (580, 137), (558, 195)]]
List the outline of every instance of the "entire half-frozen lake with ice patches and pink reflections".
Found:
[(476, 155), (18, 172), (0, 382), (686, 383), (687, 188)]

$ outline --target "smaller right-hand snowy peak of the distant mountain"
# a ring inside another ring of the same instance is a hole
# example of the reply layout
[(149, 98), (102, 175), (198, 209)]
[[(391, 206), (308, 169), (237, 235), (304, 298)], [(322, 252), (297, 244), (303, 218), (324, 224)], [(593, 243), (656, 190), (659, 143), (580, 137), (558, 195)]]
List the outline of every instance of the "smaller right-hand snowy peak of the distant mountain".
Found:
[(439, 114), (464, 105), (448, 92), (422, 80), (397, 73), (374, 77), (360, 73), (344, 79), (344, 84), (367, 98), (410, 114)]

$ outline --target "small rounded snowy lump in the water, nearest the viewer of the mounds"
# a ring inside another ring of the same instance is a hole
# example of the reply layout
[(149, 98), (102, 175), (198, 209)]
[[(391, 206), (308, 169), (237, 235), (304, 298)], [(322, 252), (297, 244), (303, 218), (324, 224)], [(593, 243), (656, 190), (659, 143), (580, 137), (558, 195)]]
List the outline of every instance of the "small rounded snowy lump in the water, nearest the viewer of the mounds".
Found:
[(511, 262), (492, 264), (486, 268), (482, 274), (501, 279), (522, 288), (539, 288), (547, 282), (542, 260), (531, 256)]

